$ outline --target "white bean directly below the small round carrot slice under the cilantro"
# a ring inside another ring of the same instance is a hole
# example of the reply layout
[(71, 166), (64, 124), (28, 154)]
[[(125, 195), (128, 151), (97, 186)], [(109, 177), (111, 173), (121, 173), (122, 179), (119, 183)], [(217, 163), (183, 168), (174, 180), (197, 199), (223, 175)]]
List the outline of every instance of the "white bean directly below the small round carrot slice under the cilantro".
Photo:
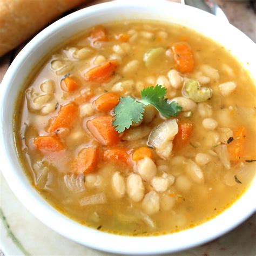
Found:
[(144, 157), (134, 166), (134, 172), (138, 173), (143, 180), (150, 182), (157, 174), (157, 166), (151, 158)]

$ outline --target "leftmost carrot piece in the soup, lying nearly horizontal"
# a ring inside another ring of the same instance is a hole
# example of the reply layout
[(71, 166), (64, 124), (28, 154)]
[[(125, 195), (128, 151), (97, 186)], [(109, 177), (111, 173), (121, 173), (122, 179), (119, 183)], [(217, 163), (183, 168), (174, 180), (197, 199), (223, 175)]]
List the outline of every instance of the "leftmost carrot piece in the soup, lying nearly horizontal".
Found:
[(33, 144), (39, 150), (60, 151), (63, 150), (63, 144), (57, 136), (39, 136), (33, 139)]

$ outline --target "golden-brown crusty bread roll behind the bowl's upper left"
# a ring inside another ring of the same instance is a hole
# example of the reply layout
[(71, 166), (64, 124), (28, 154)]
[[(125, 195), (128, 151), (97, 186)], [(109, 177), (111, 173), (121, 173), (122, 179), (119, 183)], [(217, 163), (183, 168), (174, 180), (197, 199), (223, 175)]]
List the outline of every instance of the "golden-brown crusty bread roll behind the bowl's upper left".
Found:
[(86, 0), (0, 0), (0, 57)]

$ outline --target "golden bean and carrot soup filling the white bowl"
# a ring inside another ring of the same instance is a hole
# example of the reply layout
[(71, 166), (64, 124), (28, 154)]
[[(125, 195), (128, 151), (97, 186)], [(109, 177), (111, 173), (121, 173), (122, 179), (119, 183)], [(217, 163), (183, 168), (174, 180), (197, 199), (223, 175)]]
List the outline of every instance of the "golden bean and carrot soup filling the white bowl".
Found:
[(96, 26), (53, 53), (19, 102), (35, 188), (98, 230), (177, 232), (213, 218), (255, 175), (255, 84), (183, 26)]

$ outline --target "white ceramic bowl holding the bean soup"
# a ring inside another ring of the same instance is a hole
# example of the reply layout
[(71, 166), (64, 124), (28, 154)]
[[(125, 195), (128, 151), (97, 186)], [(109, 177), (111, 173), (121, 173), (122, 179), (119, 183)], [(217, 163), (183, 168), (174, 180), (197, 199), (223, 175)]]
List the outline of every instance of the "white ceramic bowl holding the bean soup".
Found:
[[(17, 159), (13, 115), (15, 100), (25, 78), (45, 53), (77, 32), (95, 24), (120, 19), (156, 19), (188, 26), (224, 45), (255, 77), (255, 45), (228, 22), (198, 9), (171, 2), (110, 2), (70, 14), (44, 29), (19, 53), (6, 72), (1, 86), (1, 169), (19, 200), (44, 224), (80, 244), (98, 250), (153, 254), (184, 250), (230, 231), (255, 211), (254, 179), (244, 195), (225, 212), (197, 227), (159, 237), (127, 237), (103, 233), (65, 217), (50, 206), (31, 186)], [(253, 73), (254, 72), (254, 73)]]

